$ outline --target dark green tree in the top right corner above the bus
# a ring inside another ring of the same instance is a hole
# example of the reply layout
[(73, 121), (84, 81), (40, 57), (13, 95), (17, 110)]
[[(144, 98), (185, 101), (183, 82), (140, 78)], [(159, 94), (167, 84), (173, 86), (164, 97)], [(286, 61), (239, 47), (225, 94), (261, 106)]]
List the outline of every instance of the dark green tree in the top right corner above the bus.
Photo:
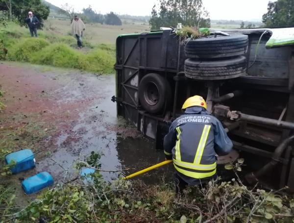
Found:
[(270, 1), (262, 22), (266, 27), (294, 26), (294, 0)]

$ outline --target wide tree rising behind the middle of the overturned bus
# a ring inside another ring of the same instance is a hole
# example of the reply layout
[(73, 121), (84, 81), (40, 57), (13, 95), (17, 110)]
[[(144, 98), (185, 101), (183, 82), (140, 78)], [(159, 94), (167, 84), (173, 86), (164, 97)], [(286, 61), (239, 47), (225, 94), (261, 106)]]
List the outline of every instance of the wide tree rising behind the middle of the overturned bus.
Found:
[(202, 0), (159, 0), (159, 9), (153, 6), (149, 20), (151, 29), (175, 27), (178, 23), (210, 27), (209, 13), (204, 9)]

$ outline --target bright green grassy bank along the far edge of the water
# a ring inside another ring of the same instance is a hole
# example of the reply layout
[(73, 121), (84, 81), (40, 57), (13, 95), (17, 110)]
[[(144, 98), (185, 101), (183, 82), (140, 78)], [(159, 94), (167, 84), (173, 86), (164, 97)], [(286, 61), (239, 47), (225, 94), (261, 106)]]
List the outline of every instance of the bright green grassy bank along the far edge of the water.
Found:
[[(60, 36), (52, 32), (40, 32), (39, 38), (28, 38), (28, 32), (12, 23), (2, 28), (0, 39), (8, 53), (6, 59), (40, 65), (73, 68), (100, 74), (113, 73), (115, 49), (105, 44), (93, 46), (84, 42), (89, 52), (74, 49), (72, 36)], [(1, 55), (1, 54), (0, 54)], [(3, 58), (2, 58), (3, 59)]]

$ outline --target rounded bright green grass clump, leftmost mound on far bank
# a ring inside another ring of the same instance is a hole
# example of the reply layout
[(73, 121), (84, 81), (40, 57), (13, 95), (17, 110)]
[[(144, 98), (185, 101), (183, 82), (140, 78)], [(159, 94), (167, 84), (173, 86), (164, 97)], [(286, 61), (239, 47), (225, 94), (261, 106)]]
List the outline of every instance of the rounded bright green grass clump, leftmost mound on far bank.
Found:
[(41, 38), (23, 38), (8, 50), (8, 59), (30, 62), (31, 54), (49, 46), (49, 42)]

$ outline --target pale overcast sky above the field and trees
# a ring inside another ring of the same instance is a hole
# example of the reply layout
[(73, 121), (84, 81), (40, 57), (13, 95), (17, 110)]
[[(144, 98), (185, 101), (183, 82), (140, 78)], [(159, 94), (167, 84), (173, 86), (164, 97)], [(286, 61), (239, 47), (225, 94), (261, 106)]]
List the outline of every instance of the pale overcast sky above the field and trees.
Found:
[[(118, 14), (135, 16), (150, 15), (151, 9), (157, 0), (47, 0), (60, 6), (69, 2), (77, 11), (92, 5), (102, 13), (114, 11)], [(267, 12), (269, 0), (202, 0), (210, 13), (211, 19), (223, 20), (261, 20)]]

